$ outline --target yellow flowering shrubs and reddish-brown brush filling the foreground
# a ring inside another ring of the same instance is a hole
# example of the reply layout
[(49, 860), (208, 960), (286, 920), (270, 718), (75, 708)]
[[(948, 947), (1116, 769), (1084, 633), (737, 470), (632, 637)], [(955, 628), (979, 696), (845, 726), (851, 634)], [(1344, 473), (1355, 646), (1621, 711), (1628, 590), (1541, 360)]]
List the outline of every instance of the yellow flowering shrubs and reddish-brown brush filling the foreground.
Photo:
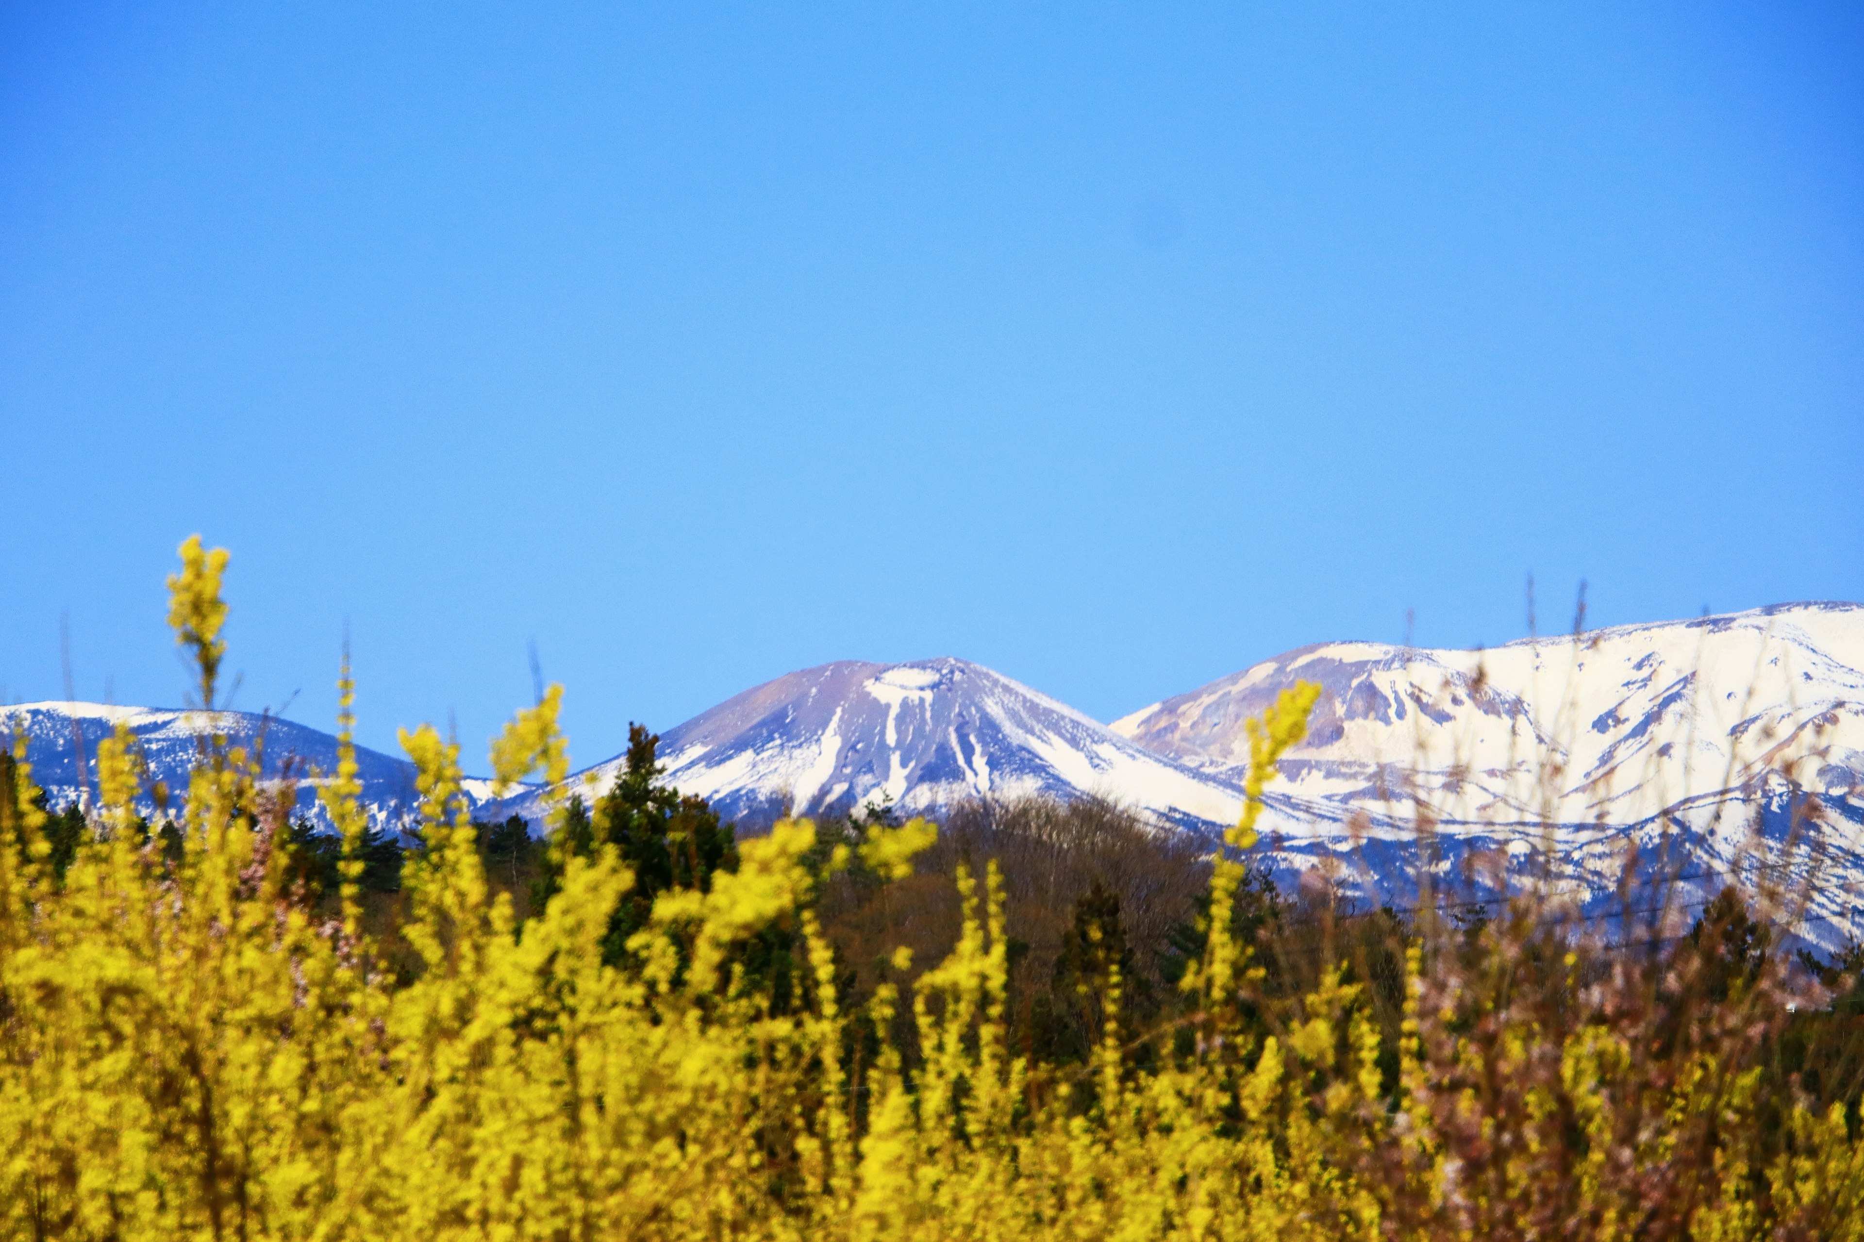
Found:
[[(4, 791), (4, 1238), (1864, 1236), (1853, 1121), (1760, 1098), (1752, 1011), (1633, 1011), (1635, 966), (1573, 955), (1525, 987), (1543, 932), (1508, 927), (1413, 940), (1396, 1041), (1344, 962), (1271, 1003), (1228, 908), (1312, 688), (1251, 731), (1182, 1005), (1122, 1029), (1115, 964), (1090, 1065), (1059, 1072), (1007, 1035), (994, 865), (958, 871), (945, 960), (844, 1007), (815, 886), (856, 858), (906, 878), (930, 824), (824, 862), (809, 821), (781, 822), (710, 888), (660, 893), (606, 962), (632, 875), (602, 843), (565, 856), (520, 925), (483, 871), (459, 746), (429, 725), (401, 735), (425, 849), (397, 929), (414, 964), (391, 964), (358, 914), (347, 662), (319, 787), (345, 843), (330, 918), (285, 882), (295, 791), (214, 735), (226, 554), (190, 539), (183, 561), (171, 625), (203, 716), (179, 856), (134, 817), (125, 733), (99, 750), (95, 834), (63, 880), (21, 748)], [(559, 703), (494, 744), (498, 781), (563, 780)], [(803, 964), (781, 996), (747, 953), (770, 929)], [(911, 1048), (889, 1037), (900, 1014)]]

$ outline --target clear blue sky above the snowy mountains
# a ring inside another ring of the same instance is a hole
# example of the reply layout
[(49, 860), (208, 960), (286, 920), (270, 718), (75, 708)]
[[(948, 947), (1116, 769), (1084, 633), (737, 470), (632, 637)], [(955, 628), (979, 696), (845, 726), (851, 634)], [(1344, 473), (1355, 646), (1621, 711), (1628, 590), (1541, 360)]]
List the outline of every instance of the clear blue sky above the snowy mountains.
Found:
[(0, 697), (578, 761), (1864, 599), (1857, 6), (7, 4)]

